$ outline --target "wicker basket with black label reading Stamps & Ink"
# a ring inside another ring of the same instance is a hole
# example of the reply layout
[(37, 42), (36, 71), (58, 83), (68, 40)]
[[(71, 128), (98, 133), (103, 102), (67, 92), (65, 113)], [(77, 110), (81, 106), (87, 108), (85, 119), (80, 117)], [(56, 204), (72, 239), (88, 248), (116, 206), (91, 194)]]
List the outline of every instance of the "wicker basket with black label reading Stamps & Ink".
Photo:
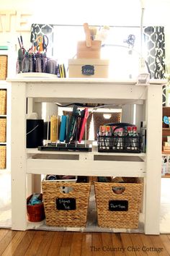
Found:
[[(63, 187), (68, 193), (63, 193)], [(71, 191), (72, 189), (72, 191)], [(42, 192), (45, 207), (46, 224), (48, 226), (86, 226), (86, 216), (89, 206), (89, 183), (47, 182), (42, 181)], [(72, 201), (75, 208), (70, 205)], [(58, 202), (66, 202), (66, 208)], [(70, 208), (70, 210), (67, 210)], [(61, 210), (58, 210), (61, 209)]]

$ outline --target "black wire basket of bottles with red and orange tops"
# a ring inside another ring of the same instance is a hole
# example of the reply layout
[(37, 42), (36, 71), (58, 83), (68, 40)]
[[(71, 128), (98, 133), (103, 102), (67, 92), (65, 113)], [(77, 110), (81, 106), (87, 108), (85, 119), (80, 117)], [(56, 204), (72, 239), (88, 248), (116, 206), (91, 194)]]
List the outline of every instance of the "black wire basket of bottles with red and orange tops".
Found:
[(99, 127), (97, 144), (99, 152), (140, 153), (141, 137), (133, 124), (105, 124)]

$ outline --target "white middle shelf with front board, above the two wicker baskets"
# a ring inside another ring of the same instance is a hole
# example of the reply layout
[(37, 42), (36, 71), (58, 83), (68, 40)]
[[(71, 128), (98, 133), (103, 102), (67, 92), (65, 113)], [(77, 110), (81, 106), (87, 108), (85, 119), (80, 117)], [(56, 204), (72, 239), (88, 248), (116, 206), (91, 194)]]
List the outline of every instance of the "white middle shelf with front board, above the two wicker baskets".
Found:
[(99, 153), (97, 146), (90, 153), (27, 149), (27, 174), (143, 177), (145, 158), (146, 153)]

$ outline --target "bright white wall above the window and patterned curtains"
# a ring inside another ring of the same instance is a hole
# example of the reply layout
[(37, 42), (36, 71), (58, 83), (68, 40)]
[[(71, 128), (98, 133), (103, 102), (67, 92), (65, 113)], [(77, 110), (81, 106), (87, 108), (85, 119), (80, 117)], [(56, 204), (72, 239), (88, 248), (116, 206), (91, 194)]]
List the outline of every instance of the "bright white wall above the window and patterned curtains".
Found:
[[(32, 12), (31, 23), (48, 24), (83, 24), (89, 25), (140, 25), (141, 5), (143, 1), (145, 12), (143, 25), (164, 25), (166, 31), (166, 56), (170, 59), (170, 0), (0, 0), (2, 9), (22, 10)], [(14, 17), (12, 17), (13, 19)], [(0, 33), (1, 40), (9, 40), (17, 44), (17, 36), (12, 21), (11, 33)], [(25, 41), (30, 41), (30, 33), (22, 33)]]

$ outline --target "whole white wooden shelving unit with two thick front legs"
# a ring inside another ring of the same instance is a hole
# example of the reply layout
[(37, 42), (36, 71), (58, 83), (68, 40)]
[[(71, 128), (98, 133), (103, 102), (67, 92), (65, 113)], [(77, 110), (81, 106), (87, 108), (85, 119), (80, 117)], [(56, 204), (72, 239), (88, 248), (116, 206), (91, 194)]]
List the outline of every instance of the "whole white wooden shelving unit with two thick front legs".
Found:
[[(159, 234), (164, 81), (151, 80), (150, 84), (137, 85), (135, 80), (29, 77), (8, 82), (12, 85), (12, 229), (30, 228), (26, 208), (27, 174), (139, 176), (144, 177), (143, 232)], [(143, 106), (141, 119), (147, 122), (147, 153), (98, 153), (95, 147), (91, 153), (26, 149), (27, 98), (39, 102), (139, 104)], [(36, 229), (34, 223), (32, 226)], [(46, 229), (50, 228), (46, 226)]]

